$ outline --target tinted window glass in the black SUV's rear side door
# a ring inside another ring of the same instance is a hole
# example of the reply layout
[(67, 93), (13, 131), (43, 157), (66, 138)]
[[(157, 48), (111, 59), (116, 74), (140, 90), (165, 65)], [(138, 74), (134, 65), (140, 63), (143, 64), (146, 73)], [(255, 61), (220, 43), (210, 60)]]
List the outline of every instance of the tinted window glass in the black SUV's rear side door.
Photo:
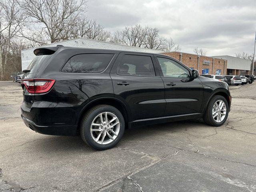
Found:
[(119, 75), (156, 76), (150, 56), (124, 55), (117, 70)]

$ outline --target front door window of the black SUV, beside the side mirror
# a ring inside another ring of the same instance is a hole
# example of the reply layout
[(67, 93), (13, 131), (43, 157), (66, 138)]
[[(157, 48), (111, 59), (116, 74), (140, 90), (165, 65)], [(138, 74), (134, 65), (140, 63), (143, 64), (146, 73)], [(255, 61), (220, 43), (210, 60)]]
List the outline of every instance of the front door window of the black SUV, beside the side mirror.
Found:
[(157, 58), (162, 69), (164, 77), (172, 77), (172, 78), (186, 78), (190, 77), (190, 74), (186, 68), (177, 62), (166, 59), (166, 58)]

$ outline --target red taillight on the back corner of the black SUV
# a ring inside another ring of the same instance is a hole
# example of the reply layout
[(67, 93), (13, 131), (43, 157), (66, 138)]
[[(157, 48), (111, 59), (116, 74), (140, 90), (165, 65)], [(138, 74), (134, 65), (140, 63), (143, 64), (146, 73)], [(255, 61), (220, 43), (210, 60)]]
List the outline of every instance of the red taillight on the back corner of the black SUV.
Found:
[(54, 85), (54, 79), (23, 79), (24, 84), (29, 93), (46, 93)]

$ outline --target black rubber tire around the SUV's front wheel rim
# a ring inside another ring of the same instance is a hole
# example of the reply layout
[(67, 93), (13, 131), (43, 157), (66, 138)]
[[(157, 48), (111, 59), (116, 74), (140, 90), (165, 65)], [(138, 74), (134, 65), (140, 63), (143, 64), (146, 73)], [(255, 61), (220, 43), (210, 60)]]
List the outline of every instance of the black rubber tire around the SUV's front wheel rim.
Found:
[[(213, 105), (218, 100), (222, 100), (226, 104), (226, 116), (222, 120), (222, 122), (216, 122), (214, 120), (214, 118), (212, 117)], [(206, 124), (211, 125), (211, 126), (222, 126), (228, 118), (228, 111), (229, 111), (229, 106), (228, 106), (227, 100), (223, 96), (220, 96), (220, 95), (213, 96), (213, 98), (210, 100), (208, 106), (206, 107), (206, 110), (205, 110), (204, 116), (203, 116), (203, 120)]]

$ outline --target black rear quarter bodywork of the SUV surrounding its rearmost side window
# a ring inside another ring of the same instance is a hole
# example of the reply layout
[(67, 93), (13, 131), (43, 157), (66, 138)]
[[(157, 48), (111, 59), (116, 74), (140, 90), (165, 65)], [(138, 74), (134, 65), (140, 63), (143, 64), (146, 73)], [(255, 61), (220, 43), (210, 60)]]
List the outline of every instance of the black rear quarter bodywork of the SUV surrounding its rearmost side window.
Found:
[[(80, 112), (90, 101), (114, 97), (110, 69), (117, 54), (100, 73), (61, 72), (70, 57), (82, 53), (85, 52), (80, 49), (63, 50), (52, 58), (50, 64), (44, 66), (44, 71), (37, 73), (34, 78), (50, 78), (56, 82), (46, 94), (30, 94), (24, 89), (24, 101), (32, 104), (31, 111), (24, 112), (26, 118), (42, 126), (76, 125)], [(90, 53), (90, 50), (86, 53)]]

